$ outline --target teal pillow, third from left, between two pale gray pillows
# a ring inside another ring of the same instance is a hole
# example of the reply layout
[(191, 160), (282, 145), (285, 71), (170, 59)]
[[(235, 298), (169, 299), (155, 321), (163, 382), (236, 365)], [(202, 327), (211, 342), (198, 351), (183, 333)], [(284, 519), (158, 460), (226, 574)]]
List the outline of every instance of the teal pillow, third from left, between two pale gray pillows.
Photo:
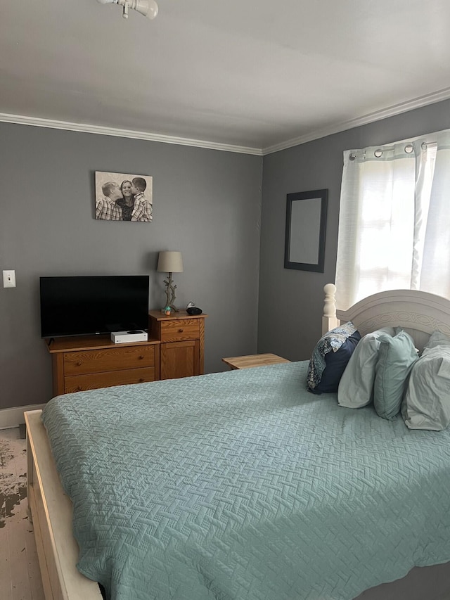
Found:
[(418, 354), (413, 338), (406, 331), (400, 331), (394, 338), (383, 333), (378, 341), (373, 405), (378, 416), (392, 421), (399, 414), (406, 381)]

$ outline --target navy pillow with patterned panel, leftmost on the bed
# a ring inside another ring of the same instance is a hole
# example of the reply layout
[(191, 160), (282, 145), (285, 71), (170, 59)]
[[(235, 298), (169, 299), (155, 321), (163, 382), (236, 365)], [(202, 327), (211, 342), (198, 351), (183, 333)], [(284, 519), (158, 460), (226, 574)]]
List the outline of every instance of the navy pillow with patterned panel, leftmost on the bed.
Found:
[(322, 336), (308, 366), (307, 386), (310, 392), (337, 392), (342, 373), (361, 339), (352, 321), (335, 327)]

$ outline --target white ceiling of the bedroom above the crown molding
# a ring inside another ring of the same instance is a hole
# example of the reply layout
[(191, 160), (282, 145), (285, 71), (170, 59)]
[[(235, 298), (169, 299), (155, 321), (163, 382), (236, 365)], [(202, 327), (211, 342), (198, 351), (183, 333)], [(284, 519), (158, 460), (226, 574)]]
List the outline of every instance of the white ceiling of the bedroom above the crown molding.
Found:
[(4, 4), (4, 121), (266, 153), (450, 97), (449, 0)]

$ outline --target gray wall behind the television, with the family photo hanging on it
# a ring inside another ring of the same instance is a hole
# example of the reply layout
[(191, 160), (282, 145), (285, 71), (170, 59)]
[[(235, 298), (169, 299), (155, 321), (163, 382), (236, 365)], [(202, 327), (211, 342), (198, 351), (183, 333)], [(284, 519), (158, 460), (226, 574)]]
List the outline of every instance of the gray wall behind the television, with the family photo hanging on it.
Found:
[[(205, 323), (205, 371), (257, 347), (262, 158), (0, 123), (0, 408), (46, 402), (51, 358), (40, 339), (39, 276), (149, 274), (165, 299), (159, 250), (181, 250), (177, 302)], [(94, 219), (94, 171), (153, 176), (153, 223)]]

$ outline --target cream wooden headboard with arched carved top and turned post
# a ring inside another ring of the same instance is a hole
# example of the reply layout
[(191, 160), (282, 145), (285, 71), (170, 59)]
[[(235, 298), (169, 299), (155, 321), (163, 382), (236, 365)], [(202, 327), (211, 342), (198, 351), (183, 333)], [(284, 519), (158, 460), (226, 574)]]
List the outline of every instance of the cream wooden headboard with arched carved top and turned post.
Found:
[(380, 327), (402, 327), (419, 350), (433, 331), (450, 336), (450, 300), (417, 290), (390, 290), (356, 302), (347, 310), (336, 308), (334, 283), (324, 286), (322, 333), (338, 324), (352, 321), (361, 336)]

